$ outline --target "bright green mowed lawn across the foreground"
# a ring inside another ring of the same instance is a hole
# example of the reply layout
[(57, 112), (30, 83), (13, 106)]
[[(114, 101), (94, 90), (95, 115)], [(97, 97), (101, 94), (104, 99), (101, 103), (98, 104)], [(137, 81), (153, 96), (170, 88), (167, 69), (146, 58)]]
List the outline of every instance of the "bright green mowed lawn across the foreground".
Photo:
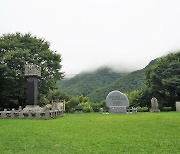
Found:
[(180, 112), (0, 119), (0, 153), (180, 153)]

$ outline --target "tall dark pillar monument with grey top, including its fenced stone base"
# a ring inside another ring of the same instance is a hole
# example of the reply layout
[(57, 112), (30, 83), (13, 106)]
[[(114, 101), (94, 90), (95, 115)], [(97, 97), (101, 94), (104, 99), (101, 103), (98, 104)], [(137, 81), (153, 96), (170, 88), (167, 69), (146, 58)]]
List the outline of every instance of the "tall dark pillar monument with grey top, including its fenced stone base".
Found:
[(19, 106), (18, 110), (0, 111), (0, 118), (19, 118), (19, 119), (51, 119), (63, 116), (64, 110), (52, 109), (51, 104), (40, 107), (37, 102), (38, 78), (41, 76), (41, 68), (37, 65), (25, 65), (25, 76), (27, 79), (27, 105), (24, 109)]

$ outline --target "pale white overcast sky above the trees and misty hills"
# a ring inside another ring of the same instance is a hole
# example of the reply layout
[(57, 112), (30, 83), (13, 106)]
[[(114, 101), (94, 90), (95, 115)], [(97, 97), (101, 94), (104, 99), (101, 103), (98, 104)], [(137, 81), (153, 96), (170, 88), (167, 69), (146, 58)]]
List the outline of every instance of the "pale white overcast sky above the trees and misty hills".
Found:
[(180, 49), (180, 0), (0, 0), (0, 35), (31, 32), (62, 55), (62, 71), (145, 67)]

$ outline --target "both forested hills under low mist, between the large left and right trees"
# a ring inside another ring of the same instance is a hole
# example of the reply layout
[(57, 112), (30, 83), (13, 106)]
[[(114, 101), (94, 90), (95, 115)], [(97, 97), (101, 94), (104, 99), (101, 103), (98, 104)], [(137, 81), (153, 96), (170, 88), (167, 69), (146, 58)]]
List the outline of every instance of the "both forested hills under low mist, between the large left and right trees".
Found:
[[(149, 65), (153, 63), (154, 60)], [(88, 96), (91, 101), (100, 102), (112, 90), (121, 92), (139, 90), (145, 83), (147, 67), (131, 73), (115, 72), (111, 68), (104, 67), (61, 80), (58, 82), (58, 87), (70, 95)]]

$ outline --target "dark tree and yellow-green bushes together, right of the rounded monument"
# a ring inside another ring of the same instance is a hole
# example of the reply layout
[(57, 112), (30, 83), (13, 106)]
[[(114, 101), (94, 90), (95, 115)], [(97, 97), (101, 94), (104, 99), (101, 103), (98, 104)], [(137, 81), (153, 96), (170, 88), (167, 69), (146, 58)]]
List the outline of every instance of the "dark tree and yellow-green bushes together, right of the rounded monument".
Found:
[(162, 111), (175, 110), (180, 100), (180, 52), (171, 53), (156, 60), (146, 71), (146, 85), (128, 93), (130, 103), (150, 107), (151, 98), (158, 99)]

